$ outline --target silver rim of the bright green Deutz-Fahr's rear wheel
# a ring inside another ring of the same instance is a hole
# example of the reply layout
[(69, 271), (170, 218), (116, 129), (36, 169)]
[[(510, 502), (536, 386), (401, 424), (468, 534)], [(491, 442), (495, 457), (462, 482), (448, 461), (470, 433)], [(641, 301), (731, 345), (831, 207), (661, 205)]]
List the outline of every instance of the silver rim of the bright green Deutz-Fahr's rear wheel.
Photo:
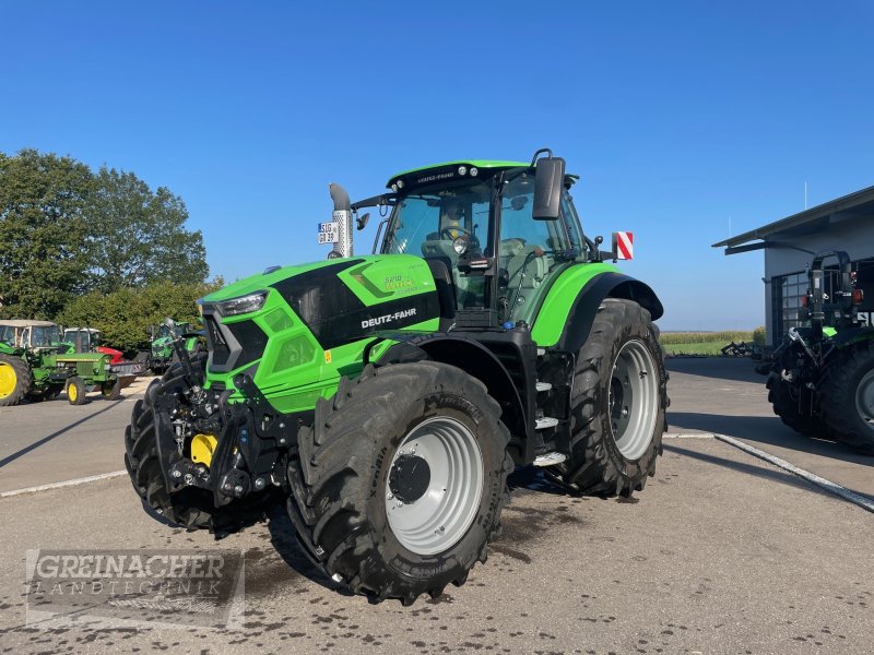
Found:
[(613, 439), (627, 460), (638, 460), (652, 442), (659, 415), (659, 374), (643, 342), (627, 342), (613, 362), (610, 380)]

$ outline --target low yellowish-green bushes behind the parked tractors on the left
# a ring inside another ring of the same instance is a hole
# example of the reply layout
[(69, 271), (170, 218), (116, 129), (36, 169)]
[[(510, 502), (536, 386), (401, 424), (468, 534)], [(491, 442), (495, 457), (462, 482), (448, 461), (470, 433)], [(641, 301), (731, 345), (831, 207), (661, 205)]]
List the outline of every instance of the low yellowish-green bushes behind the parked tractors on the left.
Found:
[(121, 288), (110, 294), (92, 291), (80, 296), (58, 315), (68, 327), (96, 327), (106, 345), (128, 356), (149, 343), (149, 327), (169, 317), (177, 322), (200, 324), (197, 300), (224, 286), (210, 283), (158, 282), (140, 289)]

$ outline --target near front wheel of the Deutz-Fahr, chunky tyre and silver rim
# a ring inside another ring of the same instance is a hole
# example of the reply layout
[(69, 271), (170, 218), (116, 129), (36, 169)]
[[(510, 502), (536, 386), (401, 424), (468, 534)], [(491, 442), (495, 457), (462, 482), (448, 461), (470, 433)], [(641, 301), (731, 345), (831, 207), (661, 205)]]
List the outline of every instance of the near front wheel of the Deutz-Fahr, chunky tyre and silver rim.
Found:
[(509, 432), (482, 383), (422, 361), (368, 367), (320, 400), (288, 465), (288, 513), (310, 558), (374, 600), (461, 585), (509, 499)]

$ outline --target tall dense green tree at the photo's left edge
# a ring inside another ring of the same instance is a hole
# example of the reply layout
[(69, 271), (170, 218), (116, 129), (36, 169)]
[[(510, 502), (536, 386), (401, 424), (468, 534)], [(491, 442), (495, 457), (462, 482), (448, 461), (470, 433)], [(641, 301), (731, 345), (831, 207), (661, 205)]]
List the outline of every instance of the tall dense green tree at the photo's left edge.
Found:
[(0, 153), (0, 318), (50, 319), (85, 290), (87, 166)]

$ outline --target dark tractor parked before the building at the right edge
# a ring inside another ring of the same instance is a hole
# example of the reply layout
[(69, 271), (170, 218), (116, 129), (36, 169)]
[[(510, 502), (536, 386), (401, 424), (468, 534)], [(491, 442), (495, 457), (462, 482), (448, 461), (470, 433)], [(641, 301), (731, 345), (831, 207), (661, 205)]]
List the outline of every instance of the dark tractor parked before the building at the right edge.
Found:
[[(824, 262), (835, 258), (836, 270)], [(817, 254), (802, 299), (805, 327), (792, 327), (757, 367), (768, 374), (768, 400), (790, 428), (841, 441), (874, 455), (874, 327), (858, 317), (857, 271), (841, 250)]]

